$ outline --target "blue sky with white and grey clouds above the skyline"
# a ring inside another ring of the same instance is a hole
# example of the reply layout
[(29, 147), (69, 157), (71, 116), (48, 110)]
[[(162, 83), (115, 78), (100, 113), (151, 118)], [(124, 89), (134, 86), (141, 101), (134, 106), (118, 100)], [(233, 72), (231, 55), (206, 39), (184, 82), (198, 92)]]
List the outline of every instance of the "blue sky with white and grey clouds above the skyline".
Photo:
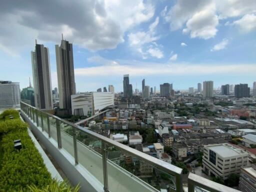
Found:
[(122, 91), (123, 74), (139, 90), (143, 78), (156, 90), (256, 81), (256, 0), (14, 0), (0, 18), (0, 80), (20, 88), (32, 82), (35, 39), (57, 87), (61, 33), (73, 43), (76, 91)]

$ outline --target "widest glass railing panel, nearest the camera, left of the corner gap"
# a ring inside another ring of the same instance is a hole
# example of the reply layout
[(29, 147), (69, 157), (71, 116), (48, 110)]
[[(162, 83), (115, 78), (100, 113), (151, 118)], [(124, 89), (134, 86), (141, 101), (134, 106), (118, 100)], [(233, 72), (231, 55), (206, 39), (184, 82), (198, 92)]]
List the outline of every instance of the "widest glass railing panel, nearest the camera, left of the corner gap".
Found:
[(136, 156), (107, 147), (107, 175), (110, 191), (172, 191), (175, 189), (175, 176), (138, 159)]

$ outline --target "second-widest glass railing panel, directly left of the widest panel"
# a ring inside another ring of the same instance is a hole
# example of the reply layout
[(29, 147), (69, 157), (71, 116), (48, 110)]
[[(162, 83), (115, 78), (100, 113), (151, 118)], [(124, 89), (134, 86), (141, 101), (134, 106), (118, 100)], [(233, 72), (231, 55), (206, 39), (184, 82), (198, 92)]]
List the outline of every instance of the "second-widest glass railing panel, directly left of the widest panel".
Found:
[(101, 140), (76, 130), (78, 162), (103, 184)]

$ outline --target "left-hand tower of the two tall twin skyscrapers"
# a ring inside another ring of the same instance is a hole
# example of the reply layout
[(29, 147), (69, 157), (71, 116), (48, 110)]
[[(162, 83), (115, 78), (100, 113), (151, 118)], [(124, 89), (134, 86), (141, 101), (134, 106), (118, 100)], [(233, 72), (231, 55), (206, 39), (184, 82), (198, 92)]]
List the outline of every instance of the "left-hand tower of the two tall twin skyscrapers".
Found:
[(35, 41), (35, 50), (31, 51), (32, 74), (34, 84), (34, 105), (36, 108), (53, 108), (49, 49)]

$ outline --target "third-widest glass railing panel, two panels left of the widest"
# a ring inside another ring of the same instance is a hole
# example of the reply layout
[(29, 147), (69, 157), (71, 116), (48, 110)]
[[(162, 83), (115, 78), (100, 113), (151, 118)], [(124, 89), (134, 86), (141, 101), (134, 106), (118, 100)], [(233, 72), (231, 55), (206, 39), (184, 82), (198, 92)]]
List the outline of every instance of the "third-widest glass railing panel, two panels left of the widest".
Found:
[(71, 154), (74, 157), (72, 126), (59, 121), (59, 127), (61, 131), (60, 134), (61, 134), (62, 148), (64, 148), (69, 154)]

